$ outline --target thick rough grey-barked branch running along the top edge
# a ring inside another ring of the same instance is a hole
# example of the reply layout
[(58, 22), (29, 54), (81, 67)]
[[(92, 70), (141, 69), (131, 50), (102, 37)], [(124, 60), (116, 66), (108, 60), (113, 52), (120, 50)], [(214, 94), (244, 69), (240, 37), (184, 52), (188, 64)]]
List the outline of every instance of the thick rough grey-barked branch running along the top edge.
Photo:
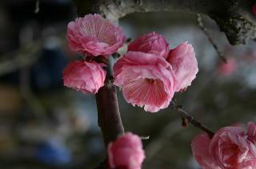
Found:
[(254, 0), (74, 0), (80, 16), (99, 14), (118, 21), (134, 12), (180, 11), (207, 14), (226, 33), (230, 44), (256, 38), (256, 17), (251, 12)]

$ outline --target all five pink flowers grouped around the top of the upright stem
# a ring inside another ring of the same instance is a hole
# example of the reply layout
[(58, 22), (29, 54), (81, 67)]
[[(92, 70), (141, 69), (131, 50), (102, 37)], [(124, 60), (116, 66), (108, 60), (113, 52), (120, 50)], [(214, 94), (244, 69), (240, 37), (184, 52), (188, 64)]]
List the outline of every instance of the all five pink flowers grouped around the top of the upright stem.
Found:
[[(95, 57), (108, 57), (126, 41), (122, 29), (98, 14), (88, 14), (70, 22), (70, 48), (90, 57), (74, 61), (63, 72), (64, 85), (78, 91), (96, 93), (104, 85), (106, 71)], [(114, 65), (114, 85), (122, 88), (126, 101), (158, 112), (168, 107), (174, 92), (186, 89), (198, 73), (192, 45), (187, 42), (169, 49), (165, 37), (148, 33), (132, 41), (128, 51)]]

